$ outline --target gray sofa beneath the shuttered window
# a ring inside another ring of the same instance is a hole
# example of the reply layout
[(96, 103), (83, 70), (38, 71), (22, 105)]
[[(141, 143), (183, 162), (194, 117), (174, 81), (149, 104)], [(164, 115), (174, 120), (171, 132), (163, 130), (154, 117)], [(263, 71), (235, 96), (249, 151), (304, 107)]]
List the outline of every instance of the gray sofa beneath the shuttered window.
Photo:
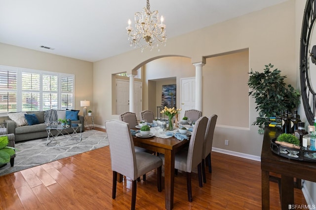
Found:
[[(32, 139), (40, 139), (47, 138), (47, 123), (45, 123), (44, 113), (45, 111), (27, 111), (27, 114), (35, 114), (39, 120), (39, 124), (36, 125), (24, 125), (24, 126), (16, 126), (15, 121), (10, 118), (4, 120), (6, 123), (7, 133), (15, 135), (15, 142), (23, 141), (23, 140), (32, 140)], [(72, 121), (72, 124), (81, 124), (81, 132), (84, 131), (84, 117), (78, 115), (77, 121)], [(66, 131), (71, 132), (72, 128), (66, 129)], [(66, 132), (63, 132), (64, 134)]]

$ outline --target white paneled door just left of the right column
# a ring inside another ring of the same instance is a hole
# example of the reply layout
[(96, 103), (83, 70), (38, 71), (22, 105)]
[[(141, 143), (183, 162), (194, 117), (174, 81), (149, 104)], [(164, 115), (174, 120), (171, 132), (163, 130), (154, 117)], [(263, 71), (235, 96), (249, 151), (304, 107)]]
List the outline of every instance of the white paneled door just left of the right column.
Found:
[(195, 109), (196, 105), (196, 78), (183, 78), (181, 79), (181, 118), (184, 117), (186, 110)]

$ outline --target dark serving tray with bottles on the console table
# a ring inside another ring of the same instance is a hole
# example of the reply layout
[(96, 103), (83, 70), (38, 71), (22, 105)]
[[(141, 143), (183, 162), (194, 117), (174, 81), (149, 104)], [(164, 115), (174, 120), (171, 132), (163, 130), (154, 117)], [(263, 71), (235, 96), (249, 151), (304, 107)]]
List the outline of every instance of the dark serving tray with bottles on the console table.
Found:
[(282, 146), (276, 143), (276, 138), (271, 140), (271, 151), (273, 153), (276, 153), (279, 156), (282, 156), (288, 159), (316, 162), (316, 151), (294, 149), (294, 148)]

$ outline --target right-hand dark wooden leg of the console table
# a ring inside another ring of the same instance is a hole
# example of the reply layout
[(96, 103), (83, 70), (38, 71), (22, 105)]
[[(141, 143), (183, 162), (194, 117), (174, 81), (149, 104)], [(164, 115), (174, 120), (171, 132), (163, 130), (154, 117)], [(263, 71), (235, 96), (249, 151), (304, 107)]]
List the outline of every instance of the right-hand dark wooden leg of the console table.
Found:
[(281, 175), (281, 209), (288, 210), (294, 204), (294, 178)]

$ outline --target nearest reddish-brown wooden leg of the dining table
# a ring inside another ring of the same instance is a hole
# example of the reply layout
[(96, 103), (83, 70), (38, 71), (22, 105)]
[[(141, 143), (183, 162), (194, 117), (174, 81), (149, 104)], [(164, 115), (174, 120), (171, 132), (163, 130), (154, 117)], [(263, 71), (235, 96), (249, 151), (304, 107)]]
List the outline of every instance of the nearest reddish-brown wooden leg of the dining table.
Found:
[(164, 191), (165, 209), (173, 208), (174, 190), (174, 152), (167, 150), (164, 154)]

